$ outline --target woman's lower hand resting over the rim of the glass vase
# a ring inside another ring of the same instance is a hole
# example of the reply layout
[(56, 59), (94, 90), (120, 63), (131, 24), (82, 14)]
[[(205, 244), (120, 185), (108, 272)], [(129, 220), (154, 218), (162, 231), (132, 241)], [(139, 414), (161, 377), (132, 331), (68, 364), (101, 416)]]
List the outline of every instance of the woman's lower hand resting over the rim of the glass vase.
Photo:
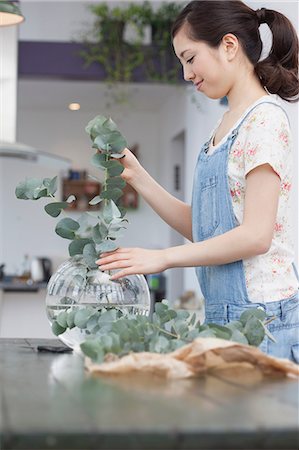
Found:
[(114, 252), (102, 253), (96, 261), (100, 270), (120, 270), (111, 280), (126, 275), (163, 272), (167, 269), (165, 250), (146, 250), (143, 248), (118, 248)]

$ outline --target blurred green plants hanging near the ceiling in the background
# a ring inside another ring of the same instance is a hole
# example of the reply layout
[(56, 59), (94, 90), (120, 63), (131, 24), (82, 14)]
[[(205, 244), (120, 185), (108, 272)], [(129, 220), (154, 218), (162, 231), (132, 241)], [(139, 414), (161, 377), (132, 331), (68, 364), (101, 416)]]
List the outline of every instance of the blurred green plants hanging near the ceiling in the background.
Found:
[[(137, 68), (149, 81), (178, 82), (181, 68), (172, 48), (171, 25), (182, 6), (182, 3), (162, 2), (157, 7), (148, 1), (121, 6), (91, 5), (94, 26), (85, 37), (85, 49), (80, 55), (87, 66), (101, 64), (109, 84), (134, 81)], [(127, 25), (136, 34), (129, 41), (125, 39)], [(143, 44), (145, 27), (152, 31), (150, 46)], [(119, 102), (124, 100), (121, 95), (118, 97)]]

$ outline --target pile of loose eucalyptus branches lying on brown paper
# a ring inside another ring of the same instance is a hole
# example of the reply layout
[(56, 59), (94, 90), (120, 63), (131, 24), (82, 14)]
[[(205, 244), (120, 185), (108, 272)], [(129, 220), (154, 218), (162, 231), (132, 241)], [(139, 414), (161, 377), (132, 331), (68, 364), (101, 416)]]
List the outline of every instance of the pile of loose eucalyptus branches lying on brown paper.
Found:
[[(83, 353), (102, 362), (107, 353), (123, 356), (131, 351), (171, 352), (197, 337), (216, 337), (229, 341), (259, 346), (264, 339), (260, 310), (244, 312), (239, 321), (226, 326), (214, 323), (201, 325), (196, 314), (176, 311), (166, 301), (156, 303), (152, 318), (130, 314), (121, 305), (111, 309), (99, 307), (70, 307), (60, 312), (52, 324), (54, 334), (64, 333), (74, 325), (89, 335), (81, 344)], [(71, 324), (71, 326), (69, 325)]]

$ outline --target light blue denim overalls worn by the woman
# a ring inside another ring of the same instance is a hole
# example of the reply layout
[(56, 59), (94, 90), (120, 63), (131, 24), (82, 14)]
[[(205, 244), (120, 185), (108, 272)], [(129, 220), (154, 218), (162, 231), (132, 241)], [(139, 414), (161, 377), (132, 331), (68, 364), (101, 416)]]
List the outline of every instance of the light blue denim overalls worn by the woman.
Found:
[[(275, 104), (266, 101), (253, 106), (214, 153), (207, 154), (212, 138), (201, 149), (192, 195), (194, 242), (226, 233), (239, 225), (233, 212), (229, 189), (228, 155), (242, 123), (248, 114), (262, 103)], [(196, 275), (205, 298), (206, 322), (225, 325), (238, 320), (241, 313), (248, 308), (261, 308), (268, 318), (275, 316), (268, 329), (277, 341), (273, 343), (266, 337), (260, 346), (261, 350), (299, 363), (298, 293), (281, 301), (251, 302), (248, 298), (242, 260), (217, 266), (199, 266), (196, 267)]]

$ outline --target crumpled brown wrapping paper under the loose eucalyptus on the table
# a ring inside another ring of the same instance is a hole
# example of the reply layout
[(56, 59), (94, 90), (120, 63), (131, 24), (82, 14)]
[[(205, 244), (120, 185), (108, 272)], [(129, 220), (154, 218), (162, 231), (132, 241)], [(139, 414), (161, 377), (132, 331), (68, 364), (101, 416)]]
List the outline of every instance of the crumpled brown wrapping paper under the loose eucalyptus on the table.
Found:
[(263, 376), (299, 376), (299, 365), (288, 359), (268, 356), (256, 347), (218, 338), (197, 338), (171, 353), (130, 353), (121, 358), (107, 355), (97, 364), (85, 360), (87, 370), (101, 375), (131, 373), (168, 379), (199, 377), (217, 372), (235, 374), (258, 370)]

